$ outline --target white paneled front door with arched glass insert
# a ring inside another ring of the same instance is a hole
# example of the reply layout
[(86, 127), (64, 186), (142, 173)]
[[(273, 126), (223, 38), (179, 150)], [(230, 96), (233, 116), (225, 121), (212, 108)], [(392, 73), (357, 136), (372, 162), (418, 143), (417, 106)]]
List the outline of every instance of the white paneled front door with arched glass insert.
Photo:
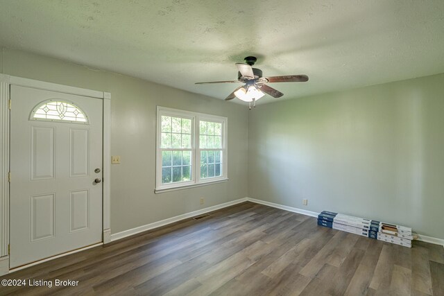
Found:
[(102, 241), (103, 102), (11, 86), (10, 268)]

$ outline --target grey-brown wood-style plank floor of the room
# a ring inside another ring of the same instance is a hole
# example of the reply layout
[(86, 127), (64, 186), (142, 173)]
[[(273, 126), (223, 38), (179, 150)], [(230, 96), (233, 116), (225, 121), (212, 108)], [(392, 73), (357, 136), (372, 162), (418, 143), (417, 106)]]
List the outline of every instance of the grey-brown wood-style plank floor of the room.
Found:
[(444, 248), (382, 243), (245, 202), (1, 279), (78, 281), (1, 295), (444, 295)]

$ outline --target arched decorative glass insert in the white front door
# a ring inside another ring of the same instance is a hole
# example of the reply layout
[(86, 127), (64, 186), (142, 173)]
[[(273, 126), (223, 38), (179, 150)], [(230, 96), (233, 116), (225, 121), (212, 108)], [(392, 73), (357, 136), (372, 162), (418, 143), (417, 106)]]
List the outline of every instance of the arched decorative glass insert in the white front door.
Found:
[(65, 101), (49, 100), (41, 103), (31, 112), (31, 119), (45, 121), (71, 121), (87, 123), (88, 119), (79, 107)]

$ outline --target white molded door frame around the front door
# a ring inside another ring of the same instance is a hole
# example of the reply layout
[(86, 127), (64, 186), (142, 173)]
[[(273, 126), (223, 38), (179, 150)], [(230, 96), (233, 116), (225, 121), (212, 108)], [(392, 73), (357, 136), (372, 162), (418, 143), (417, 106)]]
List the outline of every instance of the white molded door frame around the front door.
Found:
[[(111, 94), (0, 74), (0, 276), (9, 272), (10, 85), (101, 98), (103, 100), (103, 243), (110, 243)], [(12, 106), (13, 107), (13, 106)]]

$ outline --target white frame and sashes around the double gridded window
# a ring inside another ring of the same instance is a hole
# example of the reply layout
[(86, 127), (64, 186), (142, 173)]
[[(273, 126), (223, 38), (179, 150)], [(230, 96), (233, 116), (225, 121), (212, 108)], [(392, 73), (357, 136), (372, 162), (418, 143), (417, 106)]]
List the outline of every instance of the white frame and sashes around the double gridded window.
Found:
[[(210, 114), (203, 114), (185, 110), (172, 109), (157, 106), (156, 114), (156, 169), (155, 169), (155, 193), (184, 189), (193, 186), (203, 186), (228, 180), (228, 118)], [(191, 180), (187, 182), (171, 182), (162, 184), (162, 153), (160, 148), (162, 135), (162, 116), (177, 116), (191, 119), (191, 149), (189, 148), (162, 148), (162, 150), (191, 150)], [(222, 148), (199, 148), (200, 121), (212, 121), (222, 123)], [(222, 174), (219, 177), (200, 178), (200, 150), (222, 150)]]

